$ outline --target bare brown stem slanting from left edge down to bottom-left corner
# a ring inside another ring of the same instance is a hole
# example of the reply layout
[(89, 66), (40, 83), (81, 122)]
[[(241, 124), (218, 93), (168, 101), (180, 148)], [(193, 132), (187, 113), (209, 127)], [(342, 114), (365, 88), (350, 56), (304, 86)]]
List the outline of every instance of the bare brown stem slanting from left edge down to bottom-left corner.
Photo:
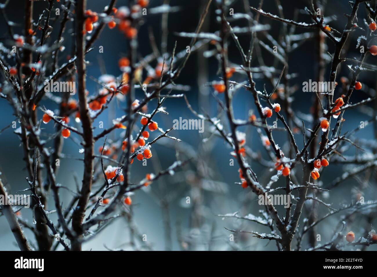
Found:
[[(0, 178), (0, 195), (6, 196), (6, 190), (3, 186), (3, 182)], [(16, 239), (17, 245), (21, 251), (31, 251), (32, 249), (29, 246), (29, 242), (26, 239), (22, 228), (17, 220), (15, 212), (12, 208), (12, 205), (2, 205), (1, 210), (2, 214), (5, 216), (6, 220), (8, 221), (9, 227), (13, 233), (14, 238)]]

